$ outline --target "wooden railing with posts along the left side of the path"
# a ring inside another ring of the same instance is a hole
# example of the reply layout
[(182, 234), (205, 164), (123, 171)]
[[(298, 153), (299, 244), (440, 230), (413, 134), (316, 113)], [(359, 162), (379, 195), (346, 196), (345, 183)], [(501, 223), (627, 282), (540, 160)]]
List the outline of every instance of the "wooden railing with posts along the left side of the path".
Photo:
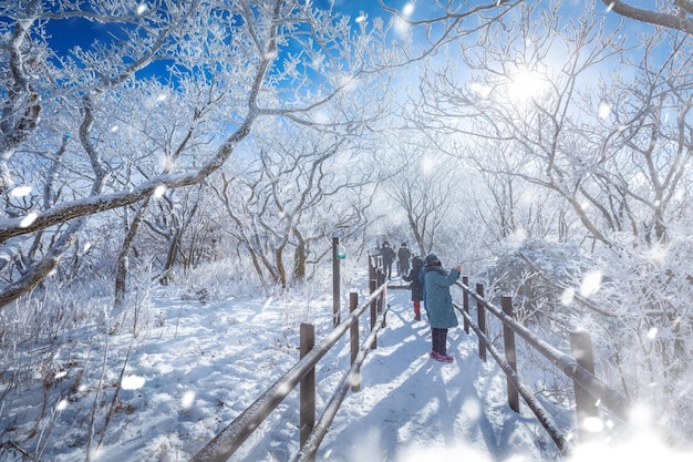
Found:
[[(190, 462), (227, 461), (297, 386), (300, 386), (301, 449), (294, 461), (314, 460), (318, 446), (346, 392), (349, 389), (352, 391), (360, 389), (361, 365), (365, 360), (368, 351), (376, 348), (377, 332), (385, 326), (389, 309), (385, 302), (387, 284), (382, 271), (376, 270), (375, 261), (375, 258), (370, 258), (370, 295), (363, 304), (359, 306), (359, 295), (351, 292), (349, 295), (349, 317), (334, 326), (334, 329), (318, 345), (314, 345), (314, 326), (302, 324), (299, 361), (210, 442), (205, 444), (190, 459)], [(384, 309), (383, 306), (385, 306)], [(370, 308), (371, 331), (365, 341), (360, 345), (359, 319), (368, 308)], [(318, 424), (316, 424), (316, 366), (346, 332), (350, 335), (351, 368), (344, 373)]]

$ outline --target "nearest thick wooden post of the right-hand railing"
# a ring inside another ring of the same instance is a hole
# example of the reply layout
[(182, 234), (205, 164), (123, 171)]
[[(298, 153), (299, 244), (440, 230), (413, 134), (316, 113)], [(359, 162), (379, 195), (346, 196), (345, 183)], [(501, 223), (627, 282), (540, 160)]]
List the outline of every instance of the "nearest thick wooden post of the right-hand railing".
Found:
[[(594, 374), (594, 352), (592, 351), (592, 339), (588, 332), (573, 331), (570, 332), (570, 351), (578, 365), (587, 369), (592, 376)], [(586, 421), (590, 418), (599, 417), (599, 408), (597, 400), (588, 393), (582, 387), (573, 381), (576, 415), (578, 419), (578, 439), (580, 443), (590, 442), (596, 434), (586, 425)]]

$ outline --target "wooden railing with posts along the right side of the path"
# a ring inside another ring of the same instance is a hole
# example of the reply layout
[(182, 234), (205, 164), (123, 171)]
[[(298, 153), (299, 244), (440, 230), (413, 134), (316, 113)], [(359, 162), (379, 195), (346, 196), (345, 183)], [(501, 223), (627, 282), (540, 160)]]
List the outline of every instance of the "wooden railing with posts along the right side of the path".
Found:
[[(562, 434), (551, 414), (544, 409), (541, 403), (535, 398), (535, 393), (523, 382), (517, 370), (516, 335), (520, 336), (529, 347), (548, 359), (560, 372), (572, 379), (576, 398), (578, 438), (581, 441), (588, 440), (591, 435), (585, 428), (586, 419), (597, 418), (600, 407), (610, 410), (614, 415), (628, 422), (628, 400), (594, 377), (592, 342), (587, 332), (569, 332), (572, 356), (567, 355), (537, 337), (515, 319), (513, 299), (510, 297), (503, 297), (500, 302), (501, 307), (498, 308), (486, 300), (484, 297), (484, 286), (482, 284), (477, 284), (476, 290), (472, 290), (468, 286), (468, 278), (463, 277), (462, 283), (456, 283), (456, 286), (464, 291), (463, 305), (454, 305), (464, 317), (464, 330), (469, 333), (469, 328), (472, 328), (476, 333), (479, 341), (479, 357), (482, 360), (486, 361), (487, 352), (490, 352), (494, 360), (505, 372), (507, 378), (508, 404), (510, 409), (515, 412), (519, 412), (519, 396), (521, 396), (561, 453), (566, 454), (570, 452), (572, 445), (571, 440)], [(470, 299), (476, 301), (476, 324), (469, 314)], [(503, 355), (490, 340), (489, 329), (486, 322), (487, 312), (503, 322), (503, 343), (505, 350)]]

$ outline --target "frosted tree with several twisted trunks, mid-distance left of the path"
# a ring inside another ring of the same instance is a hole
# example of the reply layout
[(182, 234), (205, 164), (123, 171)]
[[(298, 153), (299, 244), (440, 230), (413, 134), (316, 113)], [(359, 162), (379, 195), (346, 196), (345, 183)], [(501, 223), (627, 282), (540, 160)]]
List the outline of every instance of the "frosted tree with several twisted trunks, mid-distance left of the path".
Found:
[(286, 287), (327, 255), (335, 230), (359, 234), (380, 172), (371, 167), (374, 153), (361, 150), (362, 133), (268, 121), (242, 162), (210, 185), (226, 212), (220, 228), (245, 248), (260, 280)]

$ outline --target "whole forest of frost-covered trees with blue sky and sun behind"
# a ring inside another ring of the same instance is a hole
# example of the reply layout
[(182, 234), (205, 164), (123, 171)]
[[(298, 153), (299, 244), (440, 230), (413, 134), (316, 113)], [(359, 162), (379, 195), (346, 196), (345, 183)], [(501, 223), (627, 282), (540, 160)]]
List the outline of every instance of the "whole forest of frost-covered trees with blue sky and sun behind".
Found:
[(0, 6), (0, 397), (71, 332), (130, 329), (146, 286), (281, 297), (338, 233), (590, 331), (604, 380), (689, 440), (693, 3), (333, 3)]

